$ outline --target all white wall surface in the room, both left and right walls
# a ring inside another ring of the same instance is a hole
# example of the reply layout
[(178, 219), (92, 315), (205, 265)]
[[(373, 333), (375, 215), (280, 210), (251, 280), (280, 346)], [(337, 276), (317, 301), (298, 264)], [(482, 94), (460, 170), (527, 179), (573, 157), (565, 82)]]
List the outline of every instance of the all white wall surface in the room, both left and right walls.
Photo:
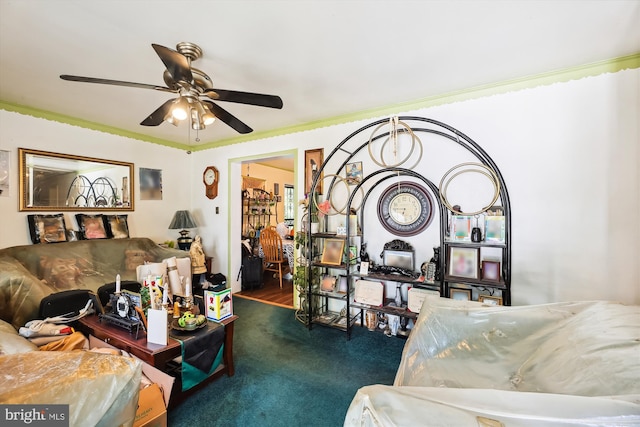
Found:
[[(406, 113), (465, 133), (502, 171), (513, 209), (514, 305), (640, 303), (639, 82), (640, 70), (627, 70)], [(323, 147), (326, 156), (375, 119), (177, 156), (175, 149), (0, 111), (0, 149), (12, 151), (15, 171), (11, 197), (0, 197), (0, 247), (28, 243), (26, 214), (17, 212), (17, 147), (127, 160), (136, 173), (139, 167), (163, 169), (165, 183), (162, 202), (136, 200), (134, 235), (174, 237), (166, 229), (173, 212), (190, 206), (205, 252), (215, 257), (214, 270), (238, 291), (241, 170), (239, 161), (228, 159), (270, 157), (274, 148), (296, 153), (301, 199), (304, 151)], [(425, 160), (417, 170), (436, 182), (450, 165), (464, 161), (423, 142)], [(207, 165), (220, 171), (214, 200), (204, 195)], [(376, 235), (369, 247), (375, 256), (391, 237)], [(431, 256), (437, 241), (426, 233), (411, 243), (421, 259)]]

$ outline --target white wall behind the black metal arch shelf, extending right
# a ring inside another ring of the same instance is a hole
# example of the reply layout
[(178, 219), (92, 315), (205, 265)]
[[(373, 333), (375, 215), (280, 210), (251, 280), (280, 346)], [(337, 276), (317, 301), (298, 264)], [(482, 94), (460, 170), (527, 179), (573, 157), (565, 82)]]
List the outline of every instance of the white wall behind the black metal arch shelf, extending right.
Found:
[[(514, 305), (582, 299), (640, 303), (639, 76), (639, 70), (628, 70), (407, 113), (465, 133), (502, 171), (513, 211)], [(296, 191), (302, 198), (304, 150), (324, 147), (326, 156), (373, 120), (209, 151), (227, 159), (268, 153), (265, 147), (297, 148), (301, 166)], [(425, 159), (437, 155), (425, 150)], [(425, 164), (437, 169), (419, 166), (425, 175), (437, 178), (447, 170), (427, 160)], [(239, 166), (220, 167), (221, 176), (239, 188), (234, 183)], [(236, 197), (229, 197), (231, 206), (239, 205)], [(203, 203), (202, 198), (194, 200)], [(230, 283), (238, 290), (240, 249), (233, 240), (240, 225), (235, 217), (229, 230), (216, 228), (209, 237), (232, 239), (226, 251), (218, 252), (218, 265), (223, 271), (228, 265)], [(387, 237), (381, 235), (369, 253), (377, 256)], [(418, 259), (428, 259), (437, 241), (420, 237), (411, 242)]]

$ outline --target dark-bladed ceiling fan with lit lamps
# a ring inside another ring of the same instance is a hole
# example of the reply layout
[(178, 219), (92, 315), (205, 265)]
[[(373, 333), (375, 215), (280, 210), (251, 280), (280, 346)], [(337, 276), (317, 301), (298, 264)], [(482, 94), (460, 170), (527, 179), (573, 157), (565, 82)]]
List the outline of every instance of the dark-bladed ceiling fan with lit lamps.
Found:
[(163, 74), (166, 87), (67, 74), (61, 75), (60, 78), (74, 82), (153, 89), (178, 95), (177, 98), (169, 99), (144, 119), (140, 123), (143, 126), (158, 126), (165, 121), (177, 126), (180, 121), (189, 118), (191, 127), (194, 130), (200, 130), (212, 124), (217, 117), (237, 132), (249, 133), (253, 129), (211, 100), (282, 108), (282, 99), (279, 96), (214, 89), (211, 78), (203, 71), (191, 66), (191, 62), (202, 57), (202, 49), (196, 44), (178, 43), (177, 51), (157, 44), (151, 46), (167, 67)]

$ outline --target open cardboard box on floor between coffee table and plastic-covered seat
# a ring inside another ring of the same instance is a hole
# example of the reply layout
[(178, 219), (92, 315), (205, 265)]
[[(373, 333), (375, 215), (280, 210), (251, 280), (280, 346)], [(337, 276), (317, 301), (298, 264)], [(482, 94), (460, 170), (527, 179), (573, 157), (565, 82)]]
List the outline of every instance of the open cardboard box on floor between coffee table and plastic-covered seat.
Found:
[[(89, 348), (96, 347), (116, 348), (90, 335)], [(130, 356), (138, 359), (134, 355)], [(171, 389), (173, 388), (175, 378), (142, 360), (140, 360), (140, 363), (142, 364), (142, 373), (149, 378), (153, 384), (140, 390), (138, 410), (136, 411), (133, 427), (166, 427), (167, 406), (169, 406), (169, 398), (171, 397)]]

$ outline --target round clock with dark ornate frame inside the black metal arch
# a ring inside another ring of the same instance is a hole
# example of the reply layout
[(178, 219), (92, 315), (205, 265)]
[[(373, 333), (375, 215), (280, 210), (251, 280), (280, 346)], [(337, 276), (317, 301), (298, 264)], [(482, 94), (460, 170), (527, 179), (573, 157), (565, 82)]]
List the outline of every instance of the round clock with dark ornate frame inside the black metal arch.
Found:
[(433, 220), (433, 198), (414, 182), (393, 184), (380, 196), (378, 218), (387, 231), (397, 236), (415, 236)]

